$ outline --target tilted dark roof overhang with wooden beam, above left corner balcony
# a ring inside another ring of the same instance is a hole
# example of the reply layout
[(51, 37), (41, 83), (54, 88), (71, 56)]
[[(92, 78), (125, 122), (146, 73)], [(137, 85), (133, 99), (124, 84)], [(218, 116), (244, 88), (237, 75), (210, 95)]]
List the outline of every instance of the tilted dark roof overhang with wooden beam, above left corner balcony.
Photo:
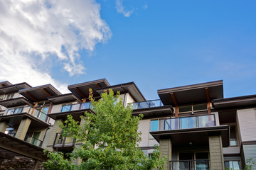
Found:
[(60, 91), (55, 89), (55, 87), (52, 86), (51, 84), (31, 87), (28, 89), (22, 89), (22, 90), (19, 90), (18, 93), (33, 102), (47, 101), (48, 97), (50, 97), (50, 96), (61, 95)]

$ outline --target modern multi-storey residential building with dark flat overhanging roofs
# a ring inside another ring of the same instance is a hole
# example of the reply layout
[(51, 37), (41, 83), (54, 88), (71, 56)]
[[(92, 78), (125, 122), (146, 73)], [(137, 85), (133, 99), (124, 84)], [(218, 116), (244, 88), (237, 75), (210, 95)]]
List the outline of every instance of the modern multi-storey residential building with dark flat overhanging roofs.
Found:
[(110, 86), (106, 79), (70, 85), (70, 94), (50, 84), (0, 82), (0, 160), (25, 156), (38, 163), (47, 159), (43, 149), (78, 147), (59, 124), (73, 115), (82, 125), (80, 115), (93, 112), (89, 89), (95, 100), (106, 89), (120, 91), (124, 106), (144, 115), (139, 147), (150, 157), (159, 145), (166, 169), (242, 169), (256, 161), (256, 95), (223, 98), (223, 81), (212, 81), (161, 89), (159, 99), (146, 101), (134, 82)]

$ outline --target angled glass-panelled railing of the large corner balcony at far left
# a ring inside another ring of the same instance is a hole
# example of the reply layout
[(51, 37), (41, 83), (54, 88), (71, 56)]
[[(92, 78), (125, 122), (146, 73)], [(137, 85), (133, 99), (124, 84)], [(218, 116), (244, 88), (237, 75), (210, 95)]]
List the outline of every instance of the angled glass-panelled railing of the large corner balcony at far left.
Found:
[(31, 108), (31, 106), (25, 106), (25, 107), (18, 107), (18, 108), (10, 108), (6, 115), (13, 115), (18, 113), (30, 113), (34, 117), (45, 121), (46, 123), (50, 122), (50, 117), (46, 115), (46, 113), (43, 113), (42, 111), (36, 110), (36, 108)]

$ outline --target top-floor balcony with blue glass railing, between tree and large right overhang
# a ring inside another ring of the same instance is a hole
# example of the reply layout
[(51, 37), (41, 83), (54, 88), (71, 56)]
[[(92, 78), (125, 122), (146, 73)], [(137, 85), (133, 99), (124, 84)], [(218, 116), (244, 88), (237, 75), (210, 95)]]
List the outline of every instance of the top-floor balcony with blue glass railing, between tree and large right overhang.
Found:
[(137, 103), (130, 103), (132, 104), (132, 111), (133, 115), (143, 114), (144, 118), (154, 115), (173, 115), (174, 109), (171, 105), (164, 106), (161, 100), (152, 100), (152, 101), (142, 101)]

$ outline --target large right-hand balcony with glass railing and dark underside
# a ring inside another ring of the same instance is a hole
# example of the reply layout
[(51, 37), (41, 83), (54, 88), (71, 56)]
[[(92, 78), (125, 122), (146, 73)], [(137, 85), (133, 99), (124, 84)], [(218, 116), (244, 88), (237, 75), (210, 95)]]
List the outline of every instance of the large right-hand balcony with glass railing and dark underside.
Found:
[(151, 121), (150, 135), (159, 142), (171, 138), (175, 147), (201, 147), (208, 149), (210, 135), (219, 134), (223, 147), (229, 146), (229, 126), (217, 125), (215, 115), (193, 115), (181, 118), (160, 119), (159, 123)]

